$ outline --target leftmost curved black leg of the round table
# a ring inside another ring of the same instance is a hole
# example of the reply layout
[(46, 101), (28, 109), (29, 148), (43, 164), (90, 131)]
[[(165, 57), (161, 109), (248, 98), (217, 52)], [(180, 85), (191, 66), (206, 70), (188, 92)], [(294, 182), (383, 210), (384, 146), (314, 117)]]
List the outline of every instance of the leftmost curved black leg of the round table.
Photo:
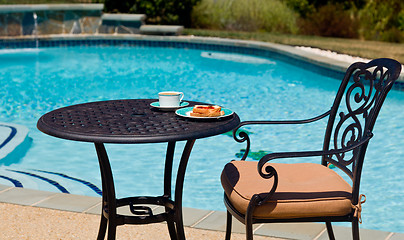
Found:
[(113, 240), (115, 239), (117, 227), (114, 179), (104, 144), (94, 144), (97, 151), (102, 181), (102, 211), (97, 239), (101, 240), (105, 238), (105, 231), (108, 225), (108, 239)]

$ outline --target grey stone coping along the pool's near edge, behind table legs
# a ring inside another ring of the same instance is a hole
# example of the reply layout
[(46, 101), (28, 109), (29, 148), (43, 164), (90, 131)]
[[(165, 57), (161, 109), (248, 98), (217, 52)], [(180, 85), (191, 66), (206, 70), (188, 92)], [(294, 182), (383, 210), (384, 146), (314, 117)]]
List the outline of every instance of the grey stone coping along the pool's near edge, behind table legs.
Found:
[[(55, 209), (82, 214), (100, 215), (101, 213), (101, 197), (47, 192), (6, 186), (2, 184), (0, 184), (0, 203)], [(154, 206), (152, 208), (153, 211), (157, 213), (159, 212), (159, 206)], [(130, 214), (129, 209), (120, 209), (118, 212), (121, 214)], [(185, 227), (195, 229), (224, 232), (226, 227), (226, 213), (224, 211), (184, 208), (183, 219)], [(245, 233), (244, 225), (238, 221), (233, 221), (233, 232)], [(334, 226), (334, 233), (336, 239), (350, 239), (351, 237), (351, 229), (349, 227)], [(328, 239), (325, 224), (322, 223), (255, 224), (254, 234), (281, 239)], [(361, 239), (364, 240), (404, 239), (404, 233), (394, 233), (373, 229), (360, 228), (360, 234)]]

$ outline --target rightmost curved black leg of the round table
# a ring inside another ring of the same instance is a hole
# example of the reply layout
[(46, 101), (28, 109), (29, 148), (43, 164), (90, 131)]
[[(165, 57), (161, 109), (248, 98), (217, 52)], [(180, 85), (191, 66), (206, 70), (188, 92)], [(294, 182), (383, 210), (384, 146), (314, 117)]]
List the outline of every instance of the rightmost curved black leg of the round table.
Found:
[(177, 180), (175, 185), (175, 223), (178, 240), (185, 240), (184, 224), (182, 220), (182, 191), (184, 186), (185, 170), (187, 168), (188, 159), (191, 155), (191, 150), (194, 143), (195, 140), (188, 140), (185, 144), (177, 172)]

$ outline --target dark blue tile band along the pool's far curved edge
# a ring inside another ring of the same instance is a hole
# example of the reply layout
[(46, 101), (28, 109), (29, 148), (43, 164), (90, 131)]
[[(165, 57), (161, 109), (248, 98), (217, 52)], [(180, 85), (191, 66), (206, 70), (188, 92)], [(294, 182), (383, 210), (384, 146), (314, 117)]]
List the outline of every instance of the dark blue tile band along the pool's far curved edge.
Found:
[[(248, 54), (264, 58), (271, 58), (287, 62), (289, 64), (309, 69), (320, 75), (343, 79), (348, 63), (335, 63), (316, 59), (316, 57), (307, 56), (309, 53), (295, 54), (289, 47), (287, 51), (281, 49), (282, 45), (269, 44), (263, 42), (221, 40), (210, 38), (194, 37), (142, 37), (134, 36), (114, 36), (114, 35), (88, 35), (74, 36), (62, 35), (51, 37), (29, 38), (3, 38), (0, 39), (0, 49), (16, 48), (47, 48), (47, 47), (78, 47), (78, 46), (125, 46), (125, 47), (162, 47), (162, 48), (182, 48), (197, 49), (205, 51), (220, 51), (227, 53)], [(285, 46), (283, 46), (285, 47)], [(328, 59), (330, 60), (330, 59)], [(332, 60), (331, 60), (332, 61)], [(404, 78), (397, 81), (394, 85), (396, 90), (404, 90)]]

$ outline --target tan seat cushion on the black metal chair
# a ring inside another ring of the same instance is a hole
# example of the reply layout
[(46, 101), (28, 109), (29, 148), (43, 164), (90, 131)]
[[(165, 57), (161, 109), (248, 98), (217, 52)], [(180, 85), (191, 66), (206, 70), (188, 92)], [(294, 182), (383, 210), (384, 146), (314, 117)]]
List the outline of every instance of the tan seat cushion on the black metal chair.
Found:
[[(253, 216), (264, 219), (344, 216), (352, 212), (351, 186), (333, 170), (314, 163), (271, 163), (279, 176), (271, 200), (256, 207)], [(263, 179), (257, 162), (226, 164), (222, 186), (232, 205), (245, 214), (254, 194), (269, 192), (273, 178)]]

